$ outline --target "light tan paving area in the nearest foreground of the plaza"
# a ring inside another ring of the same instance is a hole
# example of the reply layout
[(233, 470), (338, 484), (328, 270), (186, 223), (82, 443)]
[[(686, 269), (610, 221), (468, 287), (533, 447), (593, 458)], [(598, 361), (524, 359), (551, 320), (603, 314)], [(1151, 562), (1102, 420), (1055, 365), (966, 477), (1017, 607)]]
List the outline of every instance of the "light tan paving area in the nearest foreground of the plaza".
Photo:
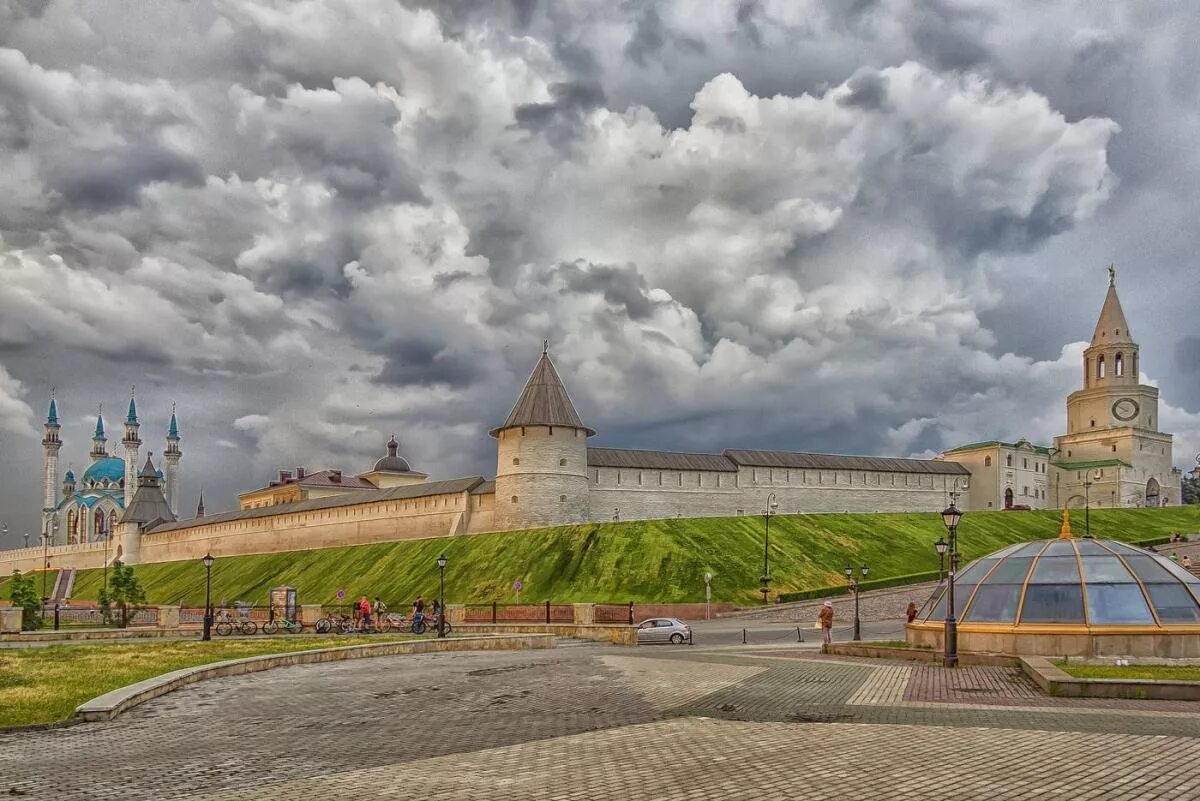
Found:
[[(1158, 757), (1169, 753), (1170, 760)], [(684, 718), (191, 796), (194, 801), (1193, 799), (1200, 741)]]

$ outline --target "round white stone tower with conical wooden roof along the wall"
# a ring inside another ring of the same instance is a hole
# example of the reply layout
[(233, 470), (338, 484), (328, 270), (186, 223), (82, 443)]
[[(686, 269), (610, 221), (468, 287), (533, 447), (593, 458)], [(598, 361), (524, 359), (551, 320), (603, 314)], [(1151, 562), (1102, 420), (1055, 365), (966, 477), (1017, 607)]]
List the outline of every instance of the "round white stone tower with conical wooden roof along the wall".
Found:
[(496, 526), (499, 530), (586, 523), (588, 438), (547, 343), (497, 440)]

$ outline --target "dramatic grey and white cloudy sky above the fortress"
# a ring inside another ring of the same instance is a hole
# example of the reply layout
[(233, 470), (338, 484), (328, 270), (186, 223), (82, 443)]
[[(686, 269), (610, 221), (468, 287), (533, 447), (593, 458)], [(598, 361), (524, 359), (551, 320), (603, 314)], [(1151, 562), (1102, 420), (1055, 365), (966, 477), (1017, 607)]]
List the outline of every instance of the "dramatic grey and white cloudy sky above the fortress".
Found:
[(1200, 10), (0, 0), (0, 520), (138, 387), (182, 502), (395, 432), (491, 475), (548, 338), (596, 444), (1061, 433), (1118, 265), (1200, 451)]

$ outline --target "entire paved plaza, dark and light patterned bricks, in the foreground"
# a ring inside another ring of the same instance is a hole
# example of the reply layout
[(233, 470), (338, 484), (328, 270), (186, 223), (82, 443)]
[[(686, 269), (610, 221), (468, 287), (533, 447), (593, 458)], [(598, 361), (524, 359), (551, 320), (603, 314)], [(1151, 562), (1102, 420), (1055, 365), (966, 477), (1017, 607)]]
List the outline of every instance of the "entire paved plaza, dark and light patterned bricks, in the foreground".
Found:
[[(0, 735), (0, 797), (1196, 799), (1200, 704), (811, 648), (397, 656)], [(7, 794), (7, 795), (6, 795)]]

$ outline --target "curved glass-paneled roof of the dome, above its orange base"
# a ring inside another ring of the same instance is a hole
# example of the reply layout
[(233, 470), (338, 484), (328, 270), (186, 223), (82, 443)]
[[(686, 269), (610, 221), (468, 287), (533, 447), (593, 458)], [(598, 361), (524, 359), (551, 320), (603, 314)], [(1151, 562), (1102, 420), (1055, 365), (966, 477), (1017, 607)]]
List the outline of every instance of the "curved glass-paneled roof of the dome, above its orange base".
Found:
[[(959, 571), (961, 625), (1200, 625), (1200, 579), (1170, 559), (1111, 540), (1039, 540)], [(946, 619), (938, 588), (922, 620)]]

